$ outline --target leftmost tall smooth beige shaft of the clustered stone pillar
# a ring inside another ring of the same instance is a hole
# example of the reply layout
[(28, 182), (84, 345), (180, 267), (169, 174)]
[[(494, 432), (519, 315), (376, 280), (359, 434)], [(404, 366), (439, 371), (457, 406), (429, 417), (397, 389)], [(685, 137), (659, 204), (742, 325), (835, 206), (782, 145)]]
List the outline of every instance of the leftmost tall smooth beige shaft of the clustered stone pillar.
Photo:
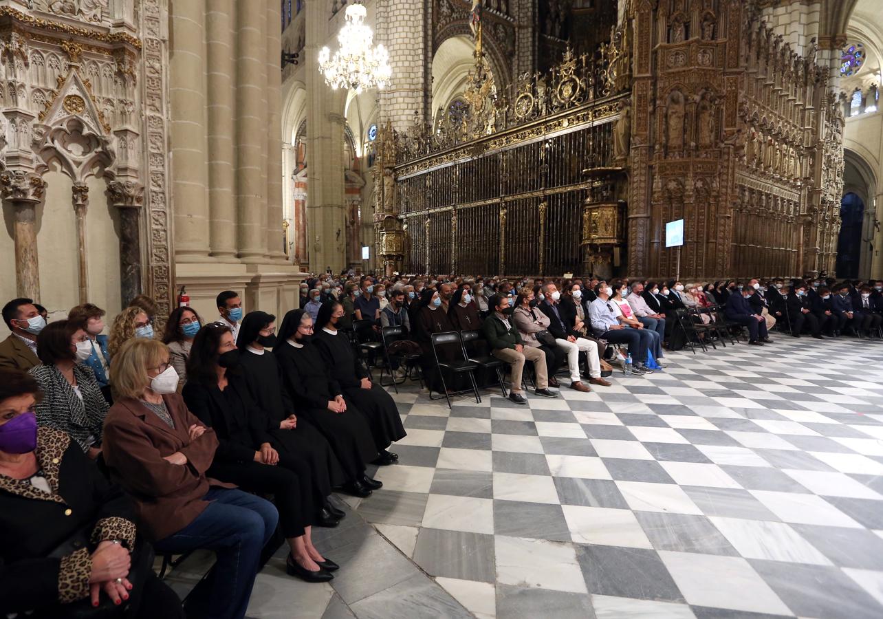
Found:
[(208, 257), (204, 29), (201, 2), (175, 3), (171, 11), (170, 142), (175, 254), (180, 262), (212, 261)]

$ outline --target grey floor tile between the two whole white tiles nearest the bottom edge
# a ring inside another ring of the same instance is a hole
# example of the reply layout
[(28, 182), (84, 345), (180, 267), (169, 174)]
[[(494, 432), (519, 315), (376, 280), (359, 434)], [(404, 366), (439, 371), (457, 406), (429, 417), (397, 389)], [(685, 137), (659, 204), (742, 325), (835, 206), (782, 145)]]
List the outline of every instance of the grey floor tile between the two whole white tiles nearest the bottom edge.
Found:
[(593, 595), (683, 602), (659, 555), (645, 548), (578, 546), (585, 585)]

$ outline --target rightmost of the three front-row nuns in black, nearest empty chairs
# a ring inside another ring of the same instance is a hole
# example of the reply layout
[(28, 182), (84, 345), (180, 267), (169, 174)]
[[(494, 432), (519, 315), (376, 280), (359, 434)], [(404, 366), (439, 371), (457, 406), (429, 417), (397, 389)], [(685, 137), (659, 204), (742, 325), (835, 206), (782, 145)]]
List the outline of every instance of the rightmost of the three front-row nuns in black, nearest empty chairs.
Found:
[(358, 410), (365, 413), (374, 435), (374, 446), (380, 457), (374, 464), (393, 464), (398, 456), (387, 448), (394, 441), (407, 435), (402, 426), (398, 407), (386, 389), (368, 379), (368, 374), (352, 353), (350, 340), (336, 328), (343, 316), (343, 306), (336, 301), (323, 303), (316, 317), (314, 343), (319, 349), (331, 378), (343, 390), (343, 396), (351, 398)]

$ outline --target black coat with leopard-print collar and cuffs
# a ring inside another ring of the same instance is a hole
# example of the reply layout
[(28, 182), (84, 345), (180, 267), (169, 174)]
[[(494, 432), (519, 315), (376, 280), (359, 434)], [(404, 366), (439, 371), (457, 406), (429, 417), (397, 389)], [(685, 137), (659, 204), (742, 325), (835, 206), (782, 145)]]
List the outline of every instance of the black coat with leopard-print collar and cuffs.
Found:
[[(28, 480), (0, 475), (2, 613), (57, 612), (60, 603), (88, 595), (87, 559), (99, 541), (123, 540), (134, 547), (132, 501), (102, 477), (76, 442), (41, 427), (35, 453), (52, 494), (35, 489)], [(49, 558), (83, 529), (91, 530), (90, 544), (64, 558)]]

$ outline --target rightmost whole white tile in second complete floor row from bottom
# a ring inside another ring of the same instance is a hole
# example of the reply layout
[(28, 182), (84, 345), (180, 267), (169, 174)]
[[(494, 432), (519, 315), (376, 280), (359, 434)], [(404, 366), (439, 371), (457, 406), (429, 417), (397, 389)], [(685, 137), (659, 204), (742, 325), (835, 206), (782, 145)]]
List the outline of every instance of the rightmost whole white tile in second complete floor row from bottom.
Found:
[(784, 523), (717, 516), (709, 517), (709, 520), (745, 558), (833, 565), (825, 555)]

